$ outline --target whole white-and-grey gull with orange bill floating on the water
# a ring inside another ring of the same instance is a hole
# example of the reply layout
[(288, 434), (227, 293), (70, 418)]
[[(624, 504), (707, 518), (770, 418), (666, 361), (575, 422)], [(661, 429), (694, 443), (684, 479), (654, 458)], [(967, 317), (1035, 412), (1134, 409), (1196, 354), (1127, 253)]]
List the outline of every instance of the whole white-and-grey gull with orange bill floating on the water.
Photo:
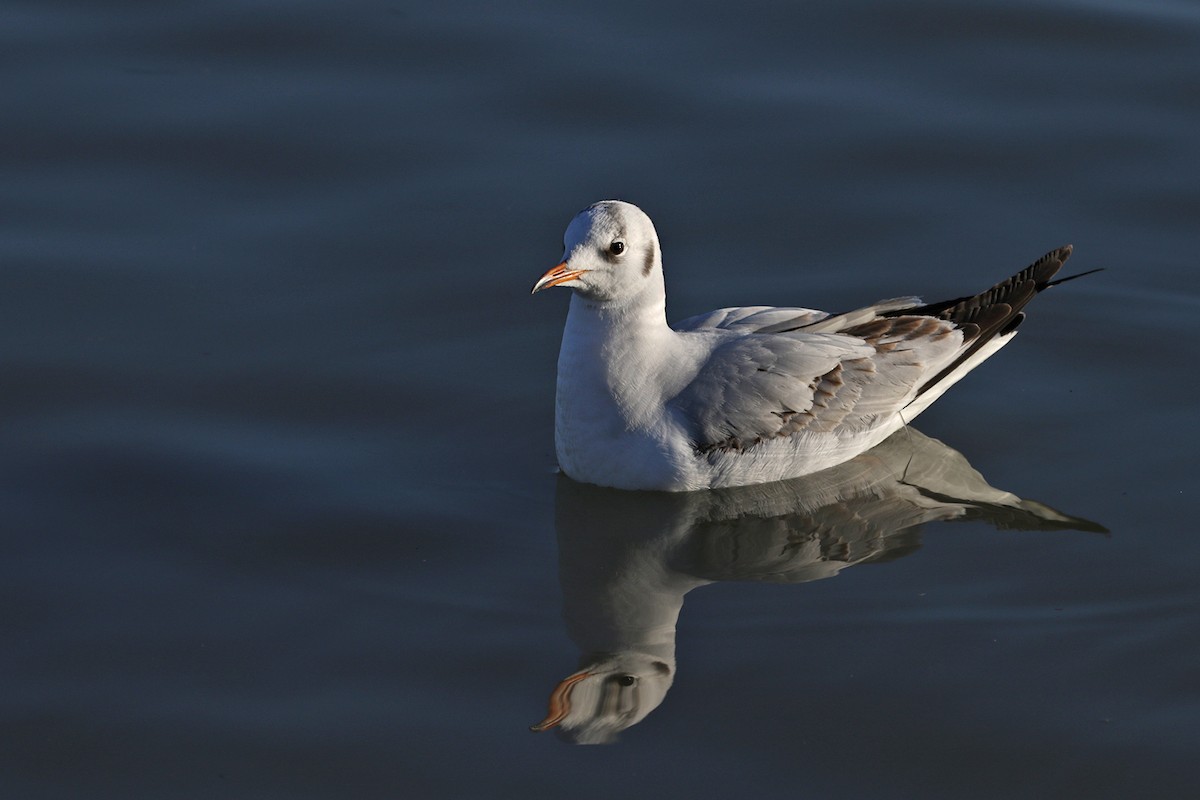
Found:
[[(808, 475), (874, 447), (1008, 344), (1070, 245), (986, 291), (828, 314), (721, 308), (666, 320), (659, 236), (602, 200), (568, 225), (533, 291), (574, 290), (558, 356), (554, 444), (570, 477), (672, 492)], [(1096, 270), (1091, 270), (1094, 272)]]

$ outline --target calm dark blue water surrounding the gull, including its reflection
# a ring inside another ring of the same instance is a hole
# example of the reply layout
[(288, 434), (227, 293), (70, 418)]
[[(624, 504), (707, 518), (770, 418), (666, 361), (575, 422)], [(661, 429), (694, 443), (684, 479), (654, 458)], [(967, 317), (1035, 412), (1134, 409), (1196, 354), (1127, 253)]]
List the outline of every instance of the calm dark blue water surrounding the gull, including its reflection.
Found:
[[(1193, 794), (1200, 5), (433, 5), (0, 12), (0, 794)], [(614, 497), (528, 296), (605, 197), (673, 318), (1106, 271), (924, 482)]]

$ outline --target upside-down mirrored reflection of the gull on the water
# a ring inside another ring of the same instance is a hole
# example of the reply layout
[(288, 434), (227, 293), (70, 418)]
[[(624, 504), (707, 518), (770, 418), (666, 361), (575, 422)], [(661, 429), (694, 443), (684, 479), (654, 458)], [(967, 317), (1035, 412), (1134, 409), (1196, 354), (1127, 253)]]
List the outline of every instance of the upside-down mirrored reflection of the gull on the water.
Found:
[(624, 492), (558, 479), (559, 581), (580, 669), (546, 718), (605, 744), (646, 718), (676, 674), (683, 597), (716, 581), (803, 583), (920, 546), (926, 522), (1016, 530), (1105, 529), (992, 488), (966, 458), (913, 428), (814, 475), (728, 489)]

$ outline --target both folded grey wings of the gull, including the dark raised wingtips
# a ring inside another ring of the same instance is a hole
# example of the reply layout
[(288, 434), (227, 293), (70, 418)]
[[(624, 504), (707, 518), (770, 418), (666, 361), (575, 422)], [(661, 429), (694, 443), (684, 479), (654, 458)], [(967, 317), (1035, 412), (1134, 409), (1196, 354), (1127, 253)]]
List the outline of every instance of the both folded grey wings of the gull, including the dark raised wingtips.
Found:
[(986, 291), (928, 306), (896, 297), (834, 315), (751, 306), (694, 317), (680, 330), (746, 335), (721, 342), (671, 403), (701, 453), (872, 428), (1012, 335), (1034, 295), (1088, 275), (1054, 279), (1070, 253), (1052, 249)]

